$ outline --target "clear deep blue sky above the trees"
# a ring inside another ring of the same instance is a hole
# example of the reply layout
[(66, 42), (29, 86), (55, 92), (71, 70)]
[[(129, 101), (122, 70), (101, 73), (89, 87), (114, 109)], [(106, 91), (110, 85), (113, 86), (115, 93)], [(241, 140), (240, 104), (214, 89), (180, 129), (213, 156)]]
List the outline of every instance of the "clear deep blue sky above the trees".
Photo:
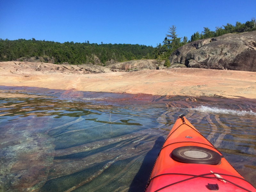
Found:
[(2, 39), (155, 47), (172, 25), (190, 39), (256, 18), (256, 0), (1, 0), (0, 10)]

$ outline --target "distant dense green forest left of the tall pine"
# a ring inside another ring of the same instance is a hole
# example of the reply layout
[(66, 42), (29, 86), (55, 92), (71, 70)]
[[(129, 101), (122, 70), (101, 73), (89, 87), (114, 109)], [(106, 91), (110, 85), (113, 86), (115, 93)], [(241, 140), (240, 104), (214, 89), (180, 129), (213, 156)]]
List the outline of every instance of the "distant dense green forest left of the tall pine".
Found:
[(95, 57), (102, 65), (114, 60), (123, 62), (137, 59), (153, 59), (154, 48), (139, 44), (90, 44), (54, 41), (42, 41), (35, 38), (26, 40), (0, 39), (0, 61), (12, 61), (19, 58), (42, 57), (42, 62), (54, 61), (59, 64), (95, 64)]

